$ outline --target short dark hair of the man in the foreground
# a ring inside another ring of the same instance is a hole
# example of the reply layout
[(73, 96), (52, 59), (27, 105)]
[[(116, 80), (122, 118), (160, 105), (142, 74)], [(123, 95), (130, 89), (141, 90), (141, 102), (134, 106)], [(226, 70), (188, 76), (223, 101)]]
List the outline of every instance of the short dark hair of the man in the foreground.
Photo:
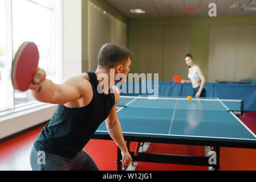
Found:
[(114, 68), (128, 57), (131, 59), (132, 52), (124, 46), (115, 43), (104, 44), (99, 52), (98, 65), (105, 68)]

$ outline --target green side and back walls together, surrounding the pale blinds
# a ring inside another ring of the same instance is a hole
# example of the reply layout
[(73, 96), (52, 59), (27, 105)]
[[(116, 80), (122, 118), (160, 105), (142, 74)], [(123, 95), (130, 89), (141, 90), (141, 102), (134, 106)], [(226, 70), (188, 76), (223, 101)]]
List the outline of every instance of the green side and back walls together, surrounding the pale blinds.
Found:
[(137, 72), (136, 33), (142, 25), (191, 25), (191, 53), (207, 79), (210, 24), (256, 24), (256, 17), (129, 19), (105, 0), (82, 0), (82, 59), (88, 60), (88, 2), (127, 24), (127, 47), (133, 52), (131, 73)]

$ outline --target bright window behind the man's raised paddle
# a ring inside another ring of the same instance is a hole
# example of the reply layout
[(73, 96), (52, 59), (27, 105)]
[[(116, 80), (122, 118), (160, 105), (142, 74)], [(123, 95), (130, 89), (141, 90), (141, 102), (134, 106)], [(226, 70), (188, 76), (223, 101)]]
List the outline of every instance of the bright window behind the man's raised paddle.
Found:
[(60, 15), (60, 0), (0, 0), (0, 111), (36, 102), (30, 90), (19, 92), (11, 85), (11, 61), (23, 42), (38, 46), (39, 67), (47, 78), (60, 81)]

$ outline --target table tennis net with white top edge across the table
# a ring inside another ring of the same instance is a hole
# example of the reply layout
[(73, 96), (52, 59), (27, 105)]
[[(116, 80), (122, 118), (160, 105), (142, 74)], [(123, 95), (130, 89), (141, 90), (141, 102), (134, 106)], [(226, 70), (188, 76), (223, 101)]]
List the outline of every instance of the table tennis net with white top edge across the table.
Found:
[(218, 98), (193, 98), (188, 101), (185, 97), (131, 97), (120, 96), (117, 107), (144, 107), (155, 109), (185, 109), (185, 110), (218, 110), (243, 112), (242, 100), (220, 100)]

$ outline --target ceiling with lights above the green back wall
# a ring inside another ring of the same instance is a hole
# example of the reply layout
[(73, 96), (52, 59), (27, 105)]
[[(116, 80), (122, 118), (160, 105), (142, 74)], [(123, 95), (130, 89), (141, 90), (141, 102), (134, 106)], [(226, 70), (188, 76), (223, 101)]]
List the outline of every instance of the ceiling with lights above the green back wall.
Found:
[[(256, 11), (247, 7), (256, 7), (256, 0), (105, 0), (116, 7), (128, 18), (178, 18), (209, 17), (209, 3), (216, 3), (217, 17), (256, 16)], [(230, 6), (237, 6), (233, 9)], [(197, 12), (185, 12), (185, 9), (198, 8)], [(130, 9), (143, 9), (145, 14), (132, 14)]]

